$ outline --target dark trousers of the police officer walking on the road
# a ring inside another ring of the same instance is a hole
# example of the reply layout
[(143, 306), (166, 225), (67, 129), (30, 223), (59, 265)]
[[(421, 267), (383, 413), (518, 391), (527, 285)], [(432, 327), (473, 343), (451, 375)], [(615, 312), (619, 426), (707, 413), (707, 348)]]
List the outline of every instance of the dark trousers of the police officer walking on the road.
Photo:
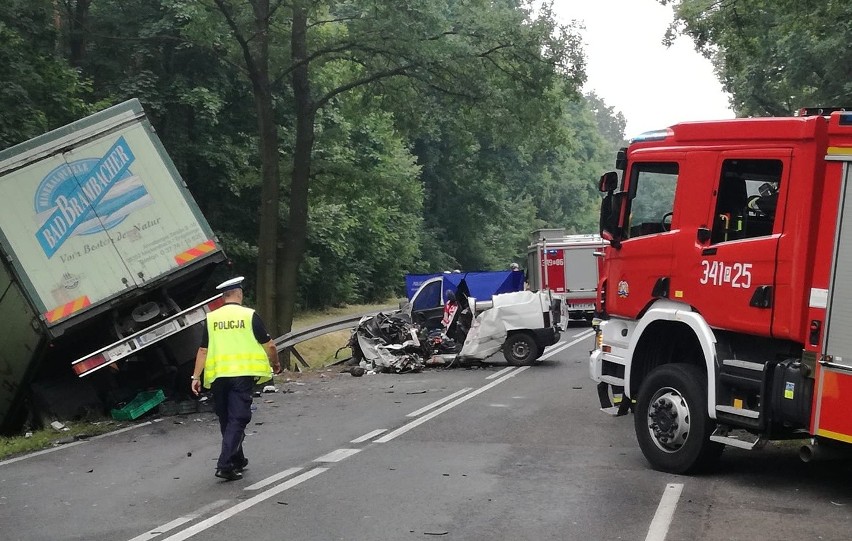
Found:
[(222, 431), (222, 451), (216, 467), (224, 470), (241, 466), (245, 460), (243, 439), (251, 421), (251, 397), (254, 377), (216, 378), (211, 385), (213, 409)]

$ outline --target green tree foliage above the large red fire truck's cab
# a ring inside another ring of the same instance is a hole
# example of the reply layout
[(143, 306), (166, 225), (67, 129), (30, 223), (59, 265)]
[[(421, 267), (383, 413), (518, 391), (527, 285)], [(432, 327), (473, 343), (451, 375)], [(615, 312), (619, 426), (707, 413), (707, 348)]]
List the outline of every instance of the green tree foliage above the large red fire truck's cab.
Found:
[(788, 116), (852, 98), (852, 4), (825, 0), (660, 0), (677, 34), (713, 61), (734, 110)]

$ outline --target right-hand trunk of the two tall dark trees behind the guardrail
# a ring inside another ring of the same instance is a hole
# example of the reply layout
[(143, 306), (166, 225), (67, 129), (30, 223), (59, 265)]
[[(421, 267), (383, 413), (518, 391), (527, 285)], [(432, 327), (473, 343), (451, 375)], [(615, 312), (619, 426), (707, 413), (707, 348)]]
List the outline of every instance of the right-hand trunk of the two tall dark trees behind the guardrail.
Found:
[(307, 10), (296, 3), (293, 7), (291, 51), (293, 62), (293, 95), (296, 103), (296, 143), (290, 179), (290, 213), (284, 235), (284, 258), (278, 269), (278, 314), (281, 332), (293, 325), (299, 265), (305, 254), (308, 235), (308, 185), (311, 176), (311, 152), (314, 146), (314, 103), (308, 78)]

